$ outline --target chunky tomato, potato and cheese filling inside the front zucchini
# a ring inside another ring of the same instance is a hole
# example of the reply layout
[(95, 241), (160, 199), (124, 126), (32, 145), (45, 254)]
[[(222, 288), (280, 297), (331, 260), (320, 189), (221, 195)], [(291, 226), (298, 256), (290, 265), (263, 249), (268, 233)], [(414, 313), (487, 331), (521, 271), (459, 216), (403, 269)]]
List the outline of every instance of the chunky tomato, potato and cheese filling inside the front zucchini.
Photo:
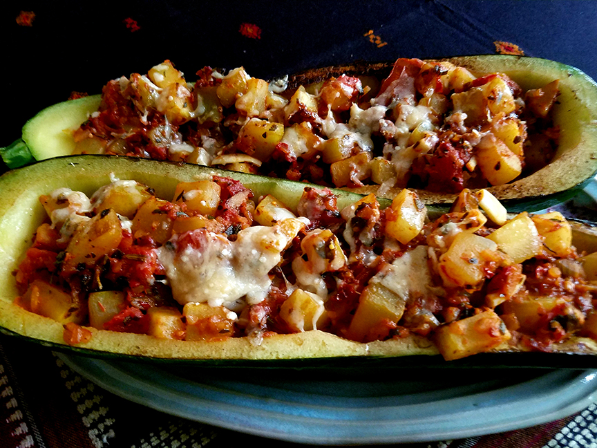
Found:
[(305, 187), (296, 209), (231, 178), (179, 183), (170, 198), (113, 178), (91, 197), (41, 196), (47, 219), (15, 271), (26, 310), (64, 324), (186, 341), (321, 330), (357, 342), (409, 335), (446, 360), (522, 344), (597, 339), (597, 253), (571, 245), (558, 212), (507, 216), (464, 189), (430, 218), (404, 189), (382, 209), (343, 209)]

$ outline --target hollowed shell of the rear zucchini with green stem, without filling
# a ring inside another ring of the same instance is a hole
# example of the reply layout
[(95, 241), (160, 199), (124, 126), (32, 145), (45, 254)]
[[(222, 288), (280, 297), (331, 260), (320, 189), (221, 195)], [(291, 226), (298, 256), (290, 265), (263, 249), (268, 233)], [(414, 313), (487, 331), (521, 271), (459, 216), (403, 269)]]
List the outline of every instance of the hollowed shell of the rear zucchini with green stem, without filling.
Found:
[[(554, 110), (554, 122), (560, 128), (560, 145), (551, 163), (534, 174), (506, 185), (489, 188), (511, 211), (529, 212), (561, 203), (597, 172), (597, 84), (577, 68), (532, 57), (511, 55), (478, 55), (444, 59), (464, 66), (471, 72), (506, 73), (524, 90), (560, 80), (560, 96)], [(325, 77), (349, 75), (374, 76), (383, 79), (393, 63), (361, 64), (319, 68), (290, 77), (290, 88), (319, 82)], [(18, 167), (33, 160), (44, 160), (72, 153), (74, 142), (64, 130), (76, 129), (88, 114), (97, 110), (99, 95), (63, 102), (44, 109), (23, 127), (21, 140), (0, 153), (9, 167)], [(367, 185), (351, 191), (375, 193), (379, 187)], [(383, 197), (393, 198), (399, 189), (390, 189)], [(456, 194), (417, 191), (426, 204), (448, 204)]]

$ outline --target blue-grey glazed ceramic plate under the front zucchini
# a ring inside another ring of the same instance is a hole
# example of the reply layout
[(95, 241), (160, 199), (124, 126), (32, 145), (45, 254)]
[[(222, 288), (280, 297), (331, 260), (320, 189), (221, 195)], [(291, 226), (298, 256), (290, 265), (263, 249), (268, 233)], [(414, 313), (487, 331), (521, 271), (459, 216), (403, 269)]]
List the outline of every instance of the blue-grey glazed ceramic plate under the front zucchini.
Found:
[(59, 355), (104, 389), (218, 427), (319, 445), (420, 442), (529, 427), (594, 402), (597, 371), (279, 371)]

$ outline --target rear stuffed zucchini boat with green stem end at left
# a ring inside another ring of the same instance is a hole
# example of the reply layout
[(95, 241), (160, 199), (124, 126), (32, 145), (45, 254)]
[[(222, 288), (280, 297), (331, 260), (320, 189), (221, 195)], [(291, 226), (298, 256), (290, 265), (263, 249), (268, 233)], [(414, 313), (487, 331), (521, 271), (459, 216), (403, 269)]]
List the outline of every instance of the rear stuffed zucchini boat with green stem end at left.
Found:
[[(597, 87), (545, 59), (485, 55), (328, 67), (267, 82), (165, 61), (52, 106), (10, 167), (70, 153), (185, 161), (424, 203), (488, 189), (540, 209), (597, 171)], [(30, 154), (29, 154), (30, 152)]]

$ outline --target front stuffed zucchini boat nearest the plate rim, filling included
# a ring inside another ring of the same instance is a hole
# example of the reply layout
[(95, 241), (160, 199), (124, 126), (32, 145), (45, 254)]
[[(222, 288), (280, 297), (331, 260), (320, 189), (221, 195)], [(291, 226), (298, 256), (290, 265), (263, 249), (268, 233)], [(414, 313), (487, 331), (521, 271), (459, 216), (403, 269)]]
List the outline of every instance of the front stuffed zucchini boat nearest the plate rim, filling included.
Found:
[[(314, 360), (597, 354), (597, 231), (188, 164), (70, 156), (0, 179), (0, 327), (86, 353)], [(575, 247), (576, 245), (576, 247)]]

